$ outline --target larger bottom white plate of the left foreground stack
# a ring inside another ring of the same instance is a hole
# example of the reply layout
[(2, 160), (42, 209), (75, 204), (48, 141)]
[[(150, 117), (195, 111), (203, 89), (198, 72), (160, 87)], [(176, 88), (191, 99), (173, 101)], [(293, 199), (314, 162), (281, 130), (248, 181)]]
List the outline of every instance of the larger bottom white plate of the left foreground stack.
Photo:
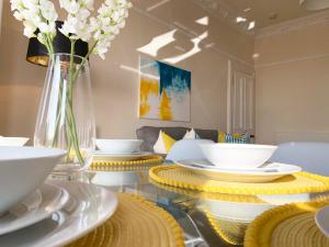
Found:
[(69, 202), (47, 220), (0, 236), (1, 247), (65, 246), (98, 227), (116, 210), (117, 199), (105, 188), (72, 181), (52, 183), (69, 192)]

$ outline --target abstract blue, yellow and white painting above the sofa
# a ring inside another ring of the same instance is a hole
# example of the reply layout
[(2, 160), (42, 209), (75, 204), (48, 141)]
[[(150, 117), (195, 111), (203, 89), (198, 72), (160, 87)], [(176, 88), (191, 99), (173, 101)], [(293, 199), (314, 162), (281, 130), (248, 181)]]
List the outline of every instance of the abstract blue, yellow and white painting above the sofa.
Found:
[(139, 117), (190, 122), (191, 71), (140, 57)]

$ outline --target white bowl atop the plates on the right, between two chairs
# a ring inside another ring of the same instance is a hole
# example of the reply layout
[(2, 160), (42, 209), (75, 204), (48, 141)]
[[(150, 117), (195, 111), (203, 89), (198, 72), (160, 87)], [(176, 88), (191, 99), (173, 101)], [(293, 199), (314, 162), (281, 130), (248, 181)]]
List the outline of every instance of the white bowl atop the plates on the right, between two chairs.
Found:
[(257, 168), (273, 155), (276, 146), (257, 144), (201, 144), (204, 156), (217, 167)]

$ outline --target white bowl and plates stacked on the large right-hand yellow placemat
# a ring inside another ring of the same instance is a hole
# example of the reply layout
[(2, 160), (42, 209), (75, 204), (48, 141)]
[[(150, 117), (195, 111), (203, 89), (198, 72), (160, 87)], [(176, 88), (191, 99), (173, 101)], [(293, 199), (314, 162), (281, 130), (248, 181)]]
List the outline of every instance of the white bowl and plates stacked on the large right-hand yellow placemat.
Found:
[(276, 146), (253, 144), (202, 144), (206, 157), (181, 160), (179, 166), (214, 180), (232, 182), (269, 182), (299, 172), (298, 166), (269, 162)]

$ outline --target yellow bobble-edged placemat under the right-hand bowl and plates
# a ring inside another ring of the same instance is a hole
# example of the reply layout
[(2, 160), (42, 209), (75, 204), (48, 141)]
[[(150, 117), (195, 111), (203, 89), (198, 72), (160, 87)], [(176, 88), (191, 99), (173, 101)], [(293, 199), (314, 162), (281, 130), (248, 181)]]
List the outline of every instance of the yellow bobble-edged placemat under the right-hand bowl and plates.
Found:
[(152, 180), (167, 186), (227, 194), (293, 194), (329, 191), (329, 178), (308, 172), (285, 176), (266, 183), (212, 180), (179, 166), (157, 166), (149, 170)]

